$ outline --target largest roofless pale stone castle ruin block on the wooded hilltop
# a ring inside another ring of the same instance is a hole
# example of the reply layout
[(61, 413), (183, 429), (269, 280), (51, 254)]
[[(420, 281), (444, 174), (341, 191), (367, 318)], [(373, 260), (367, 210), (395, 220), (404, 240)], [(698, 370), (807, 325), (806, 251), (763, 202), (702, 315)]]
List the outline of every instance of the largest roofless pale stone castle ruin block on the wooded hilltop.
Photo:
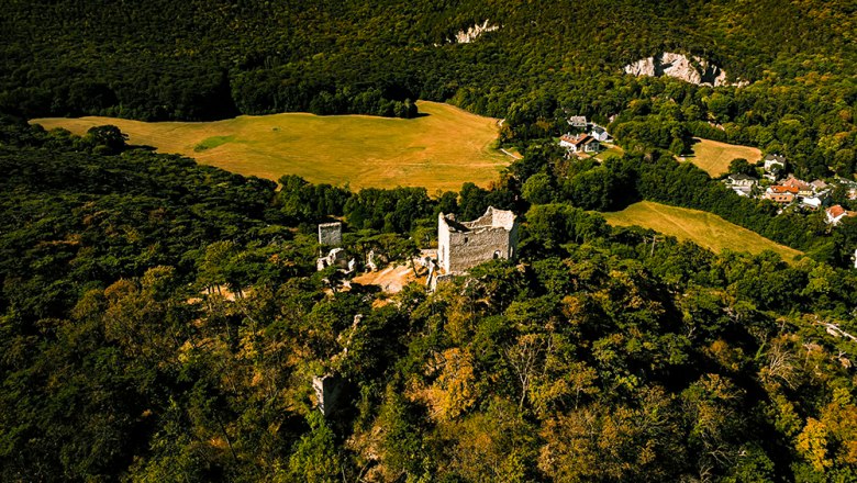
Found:
[(514, 259), (517, 221), (514, 213), (489, 206), (472, 222), (458, 222), (455, 214), (437, 217), (437, 265), (447, 273), (461, 273), (488, 260)]

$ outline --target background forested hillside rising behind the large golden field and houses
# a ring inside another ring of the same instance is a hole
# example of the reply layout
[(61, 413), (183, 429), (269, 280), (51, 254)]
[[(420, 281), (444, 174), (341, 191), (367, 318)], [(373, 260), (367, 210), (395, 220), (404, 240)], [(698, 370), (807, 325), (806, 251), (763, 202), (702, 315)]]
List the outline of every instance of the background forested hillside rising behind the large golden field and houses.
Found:
[[(566, 109), (602, 123), (619, 115), (631, 147), (681, 150), (702, 135), (779, 151), (800, 173), (850, 176), (855, 16), (849, 1), (18, 0), (0, 19), (0, 109), (407, 117), (419, 98), (505, 117), (508, 142), (558, 134)], [(499, 30), (448, 42), (486, 20)], [(622, 74), (665, 50), (752, 83)]]

